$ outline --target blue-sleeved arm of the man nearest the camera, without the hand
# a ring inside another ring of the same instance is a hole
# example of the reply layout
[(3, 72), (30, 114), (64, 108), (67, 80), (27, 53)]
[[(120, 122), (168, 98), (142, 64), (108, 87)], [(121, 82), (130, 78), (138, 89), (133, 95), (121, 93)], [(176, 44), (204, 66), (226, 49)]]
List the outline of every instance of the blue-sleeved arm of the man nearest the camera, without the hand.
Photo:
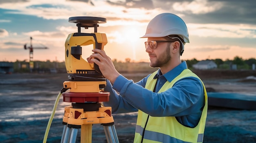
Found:
[(154, 93), (123, 76), (118, 78), (123, 78), (123, 83), (115, 82), (113, 88), (132, 106), (150, 116), (185, 116), (200, 113), (200, 108), (204, 105), (204, 89), (198, 78), (183, 78), (162, 93)]

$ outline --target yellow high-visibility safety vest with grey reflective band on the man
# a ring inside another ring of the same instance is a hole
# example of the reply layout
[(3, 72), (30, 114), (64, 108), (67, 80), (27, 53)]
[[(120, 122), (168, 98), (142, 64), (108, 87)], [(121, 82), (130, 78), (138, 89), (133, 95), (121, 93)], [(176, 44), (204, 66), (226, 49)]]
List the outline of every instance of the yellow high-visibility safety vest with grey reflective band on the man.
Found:
[[(157, 79), (153, 79), (156, 73), (157, 71), (148, 77), (145, 86), (146, 89), (150, 89), (151, 91), (153, 91), (157, 81)], [(197, 75), (191, 72), (191, 70), (184, 69), (182, 73), (171, 82), (167, 81), (159, 90), (159, 93), (173, 87), (174, 83), (178, 80), (190, 76), (199, 78)], [(202, 85), (204, 87), (203, 82)], [(152, 117), (139, 110), (134, 143), (141, 143), (145, 124), (147, 124), (147, 126), (146, 130), (144, 131), (143, 143), (202, 143), (208, 107), (207, 92), (205, 87), (204, 98), (204, 109), (202, 111), (202, 115), (198, 125), (194, 128), (183, 126), (177, 121), (175, 117)], [(148, 122), (146, 123), (147, 118)]]

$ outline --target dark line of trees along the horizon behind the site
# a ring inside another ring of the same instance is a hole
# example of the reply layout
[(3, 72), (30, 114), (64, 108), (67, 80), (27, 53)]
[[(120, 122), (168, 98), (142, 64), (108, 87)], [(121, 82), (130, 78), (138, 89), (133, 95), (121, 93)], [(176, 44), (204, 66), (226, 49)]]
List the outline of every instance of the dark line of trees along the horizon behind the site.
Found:
[[(242, 57), (236, 56), (233, 60), (222, 60), (220, 58), (216, 59), (206, 59), (212, 60), (218, 66), (218, 69), (230, 69), (230, 65), (237, 65), (237, 69), (252, 69), (253, 64), (256, 64), (255, 58), (243, 59)], [(125, 61), (117, 61), (117, 59), (112, 60), (117, 71), (119, 72), (152, 72), (155, 68), (151, 68), (147, 62), (132, 62), (130, 58), (126, 58)], [(193, 65), (199, 61), (196, 58), (186, 61), (188, 68), (193, 69)], [(65, 62), (58, 61), (34, 61), (34, 69), (58, 69), (61, 72), (65, 71)], [(14, 72), (30, 72), (29, 62), (16, 60), (13, 62)]]

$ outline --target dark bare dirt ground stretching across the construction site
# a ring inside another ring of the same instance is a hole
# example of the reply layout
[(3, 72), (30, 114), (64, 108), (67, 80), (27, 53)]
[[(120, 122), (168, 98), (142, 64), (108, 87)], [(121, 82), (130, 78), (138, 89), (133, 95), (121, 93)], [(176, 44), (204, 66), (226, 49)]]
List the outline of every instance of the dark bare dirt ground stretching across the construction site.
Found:
[[(128, 78), (137, 80), (138, 76)], [(66, 74), (0, 74), (0, 142), (42, 143), (47, 122)], [(246, 93), (256, 96), (256, 82), (245, 78), (203, 78), (216, 92)], [(64, 107), (59, 101), (47, 141), (59, 143)], [(120, 143), (131, 143), (136, 113), (113, 115)], [(93, 143), (106, 143), (103, 128), (93, 126)], [(79, 139), (78, 139), (79, 140)], [(204, 143), (256, 143), (256, 111), (209, 106)]]

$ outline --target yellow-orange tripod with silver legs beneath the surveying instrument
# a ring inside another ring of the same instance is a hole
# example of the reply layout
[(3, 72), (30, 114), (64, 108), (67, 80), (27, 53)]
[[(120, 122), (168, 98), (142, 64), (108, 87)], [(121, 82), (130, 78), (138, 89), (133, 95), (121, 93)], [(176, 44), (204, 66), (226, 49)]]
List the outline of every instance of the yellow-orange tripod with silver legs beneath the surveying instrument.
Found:
[(92, 143), (92, 124), (103, 125), (108, 143), (119, 143), (111, 107), (101, 107), (100, 103), (72, 103), (72, 106), (66, 106), (63, 124), (61, 143), (75, 143), (79, 129), (81, 143)]

